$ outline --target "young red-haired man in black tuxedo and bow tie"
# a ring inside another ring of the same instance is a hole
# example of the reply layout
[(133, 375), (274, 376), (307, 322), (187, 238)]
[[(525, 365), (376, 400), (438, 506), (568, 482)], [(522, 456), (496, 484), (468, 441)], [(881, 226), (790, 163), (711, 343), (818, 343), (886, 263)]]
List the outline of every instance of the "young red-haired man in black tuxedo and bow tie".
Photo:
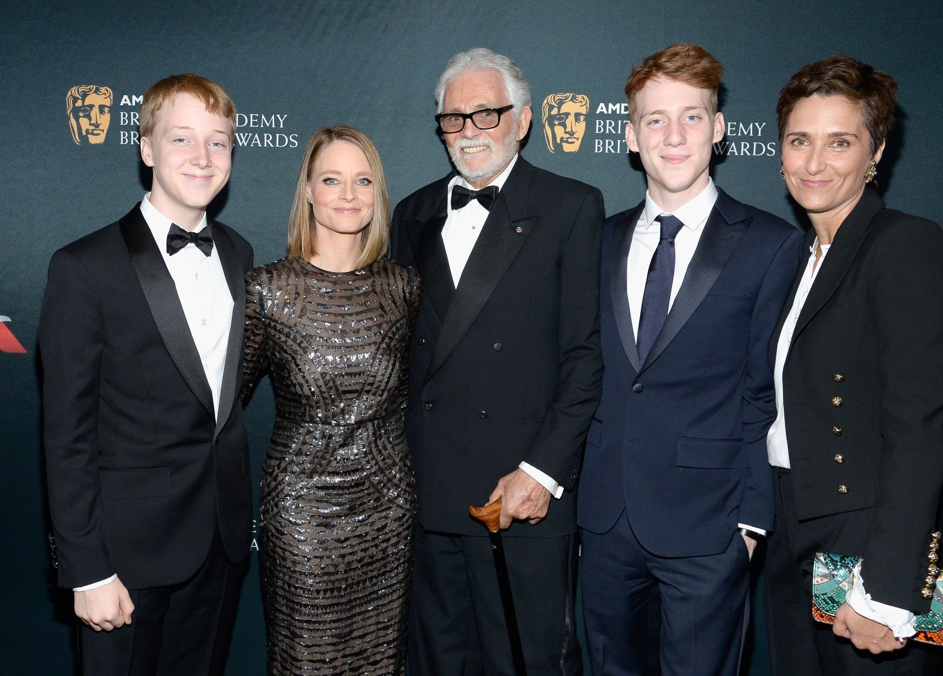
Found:
[(235, 123), (210, 80), (157, 82), (141, 104), (151, 192), (49, 264), (49, 507), (89, 676), (223, 672), (252, 519), (238, 404), (252, 247), (206, 209)]

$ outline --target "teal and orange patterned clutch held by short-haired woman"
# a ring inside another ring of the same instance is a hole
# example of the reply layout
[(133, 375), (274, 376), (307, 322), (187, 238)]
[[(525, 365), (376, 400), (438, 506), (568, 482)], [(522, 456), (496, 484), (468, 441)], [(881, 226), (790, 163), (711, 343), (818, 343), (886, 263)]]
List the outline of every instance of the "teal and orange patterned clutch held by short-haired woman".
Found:
[[(845, 596), (852, 589), (853, 570), (861, 561), (860, 556), (841, 556), (828, 552), (818, 552), (812, 568), (812, 617), (825, 622), (835, 623), (835, 613)], [(925, 598), (930, 598), (930, 612), (918, 615), (914, 624), (917, 634), (911, 640), (921, 643), (943, 645), (943, 576), (939, 575), (935, 561), (931, 562), (927, 579), (930, 582), (923, 588)]]

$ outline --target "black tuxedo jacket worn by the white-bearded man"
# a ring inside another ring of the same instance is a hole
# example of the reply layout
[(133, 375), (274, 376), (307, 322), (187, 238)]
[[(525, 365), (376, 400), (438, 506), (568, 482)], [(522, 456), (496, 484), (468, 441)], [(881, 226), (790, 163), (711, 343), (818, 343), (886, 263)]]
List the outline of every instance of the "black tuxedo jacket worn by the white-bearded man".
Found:
[(423, 288), (406, 406), (419, 521), (485, 535), (469, 505), (526, 461), (567, 490), (546, 519), (510, 535), (573, 533), (603, 369), (603, 195), (518, 157), (455, 289), (441, 237), (452, 175), (405, 198), (392, 223), (391, 257), (417, 268)]

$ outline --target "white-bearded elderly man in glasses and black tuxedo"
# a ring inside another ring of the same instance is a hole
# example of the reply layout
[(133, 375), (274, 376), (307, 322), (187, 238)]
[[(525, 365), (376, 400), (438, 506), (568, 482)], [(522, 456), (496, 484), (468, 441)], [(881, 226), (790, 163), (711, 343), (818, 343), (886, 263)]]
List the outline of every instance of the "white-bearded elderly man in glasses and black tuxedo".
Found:
[(436, 120), (455, 172), (396, 207), (418, 269), (406, 438), (419, 498), (409, 669), (513, 674), (486, 529), (502, 499), (527, 673), (578, 674), (573, 488), (599, 403), (599, 190), (519, 155), (530, 88), (510, 58), (455, 55)]

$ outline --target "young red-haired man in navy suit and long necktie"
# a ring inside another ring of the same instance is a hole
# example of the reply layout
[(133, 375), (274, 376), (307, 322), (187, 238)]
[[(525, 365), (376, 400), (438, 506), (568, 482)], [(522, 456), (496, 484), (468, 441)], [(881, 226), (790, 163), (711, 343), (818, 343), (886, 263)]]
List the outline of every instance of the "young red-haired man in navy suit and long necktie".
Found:
[(737, 672), (750, 557), (772, 529), (769, 337), (802, 237), (717, 188), (720, 63), (675, 44), (625, 86), (648, 192), (603, 229), (603, 400), (578, 494), (594, 673), (641, 674), (662, 606), (665, 674)]

